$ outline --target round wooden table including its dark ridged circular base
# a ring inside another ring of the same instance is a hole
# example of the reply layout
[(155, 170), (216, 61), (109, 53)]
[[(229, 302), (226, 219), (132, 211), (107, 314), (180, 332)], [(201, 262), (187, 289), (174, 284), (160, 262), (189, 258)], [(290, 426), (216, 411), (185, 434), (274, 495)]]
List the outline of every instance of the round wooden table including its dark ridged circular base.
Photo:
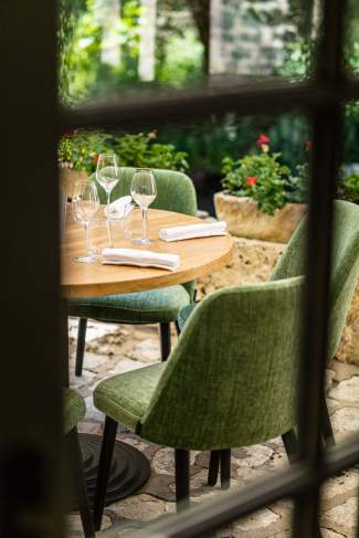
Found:
[[(77, 263), (73, 260), (85, 254), (84, 230), (67, 215), (62, 253), (62, 289), (65, 298), (102, 296), (140, 292), (193, 281), (220, 270), (231, 259), (233, 242), (222, 236), (165, 242), (159, 239), (161, 228), (203, 223), (196, 217), (170, 211), (149, 210), (148, 235), (150, 246), (134, 245), (123, 236), (122, 221), (110, 224), (115, 247), (144, 249), (180, 256), (180, 266), (171, 272), (152, 267)], [(94, 238), (106, 242), (107, 226), (94, 226)], [(67, 337), (67, 325), (65, 338)], [(68, 347), (66, 347), (68, 349)], [(68, 380), (68, 357), (65, 357), (65, 379)], [(68, 381), (67, 381), (68, 382)], [(81, 435), (84, 468), (89, 498), (93, 498), (97, 476), (101, 436)], [(149, 478), (150, 466), (137, 449), (116, 441), (114, 462), (108, 482), (106, 504), (119, 500), (138, 490)]]

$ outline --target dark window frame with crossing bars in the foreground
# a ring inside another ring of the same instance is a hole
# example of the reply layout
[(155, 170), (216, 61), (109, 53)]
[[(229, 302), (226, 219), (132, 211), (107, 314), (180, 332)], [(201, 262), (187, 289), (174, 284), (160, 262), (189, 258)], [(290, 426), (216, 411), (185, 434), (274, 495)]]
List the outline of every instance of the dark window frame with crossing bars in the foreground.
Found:
[[(178, 93), (170, 98), (158, 97), (156, 102), (154, 98), (138, 103), (113, 102), (107, 106), (75, 110), (57, 108), (55, 0), (1, 3), (0, 104), (4, 125), (2, 134), (7, 137), (2, 152), (3, 193), (7, 199), (13, 200), (17, 188), (11, 180), (22, 186), (22, 193), (17, 199), (17, 222), (13, 223), (12, 204), (3, 207), (1, 215), (3, 241), (9, 246), (6, 264), (8, 286), (2, 293), (9, 334), (2, 348), (2, 373), (11, 380), (17, 377), (15, 401), (11, 383), (4, 383), (0, 392), (3, 418), (0, 444), (1, 536), (63, 536), (59, 495), (62, 436), (59, 214), (53, 209), (57, 196), (56, 134), (73, 127), (138, 128), (176, 122), (191, 124), (196, 119), (205, 120), (211, 114), (235, 112), (239, 116), (246, 116), (295, 108), (307, 114), (314, 127), (303, 318), (305, 346), (300, 389), (306, 397), (300, 404), (300, 456), (297, 463), (271, 479), (237, 493), (229, 492), (182, 515), (156, 523), (152, 536), (209, 536), (213, 529), (284, 497), (295, 500), (295, 538), (318, 536), (320, 485), (328, 477), (359, 463), (359, 435), (326, 451), (321, 451), (319, 436), (319, 394), (324, 389), (328, 336), (332, 200), (344, 124), (341, 105), (349, 99), (359, 101), (359, 82), (350, 80), (342, 66), (346, 3), (345, 0), (323, 0), (317, 68), (309, 82), (268, 82), (202, 91), (200, 94)], [(17, 228), (11, 229), (14, 224)], [(25, 232), (30, 241), (24, 239)], [(29, 261), (44, 260), (44, 253), (47, 262), (32, 267)], [(21, 312), (14, 309), (17, 302), (22, 307)], [(43, 312), (46, 312), (46, 319), (40, 338), (36, 318)], [(22, 324), (21, 339), (13, 327), (14, 319)], [(28, 360), (32, 360), (31, 368)], [(27, 429), (23, 425), (24, 413)], [(22, 473), (19, 472), (19, 462)], [(29, 483), (31, 487), (23, 487)], [(25, 519), (21, 517), (24, 510), (27, 520), (35, 526), (32, 531), (24, 528)], [(30, 515), (33, 517), (29, 519)], [(146, 531), (146, 536), (150, 536), (149, 532)]]

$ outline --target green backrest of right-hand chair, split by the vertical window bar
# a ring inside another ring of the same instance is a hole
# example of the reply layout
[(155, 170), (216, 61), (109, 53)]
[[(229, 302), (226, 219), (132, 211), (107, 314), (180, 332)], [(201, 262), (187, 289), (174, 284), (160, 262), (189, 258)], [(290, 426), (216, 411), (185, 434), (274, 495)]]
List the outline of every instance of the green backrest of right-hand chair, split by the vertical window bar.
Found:
[[(271, 275), (272, 281), (304, 274), (307, 219), (303, 219)], [(328, 359), (339, 346), (359, 276), (359, 207), (335, 201), (330, 277), (330, 337)]]

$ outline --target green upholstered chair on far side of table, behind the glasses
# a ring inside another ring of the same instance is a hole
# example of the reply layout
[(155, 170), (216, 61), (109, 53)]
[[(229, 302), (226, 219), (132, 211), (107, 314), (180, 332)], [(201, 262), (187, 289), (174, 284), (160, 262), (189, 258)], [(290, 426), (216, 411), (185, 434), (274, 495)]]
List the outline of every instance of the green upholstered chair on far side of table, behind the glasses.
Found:
[[(119, 181), (112, 194), (113, 200), (129, 193), (134, 171), (134, 168), (120, 169)], [(176, 171), (154, 172), (157, 198), (151, 208), (194, 215), (197, 197), (192, 181), (184, 173)], [(94, 178), (95, 176), (92, 179)], [(105, 193), (101, 188), (98, 190), (102, 202), (105, 203)], [(70, 299), (67, 314), (80, 318), (76, 376), (82, 375), (87, 318), (118, 324), (159, 324), (161, 357), (166, 360), (170, 352), (170, 323), (177, 320), (180, 309), (190, 304), (193, 294), (194, 284), (187, 283), (148, 292)]]

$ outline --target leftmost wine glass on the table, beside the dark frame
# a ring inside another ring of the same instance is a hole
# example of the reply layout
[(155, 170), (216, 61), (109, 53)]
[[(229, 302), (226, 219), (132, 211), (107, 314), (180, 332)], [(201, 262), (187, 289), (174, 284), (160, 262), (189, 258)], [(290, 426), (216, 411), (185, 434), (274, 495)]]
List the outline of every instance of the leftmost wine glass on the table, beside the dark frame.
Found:
[(74, 262), (93, 263), (97, 256), (91, 253), (88, 241), (88, 226), (99, 209), (97, 188), (94, 181), (76, 181), (72, 198), (72, 211), (76, 222), (83, 224), (85, 230), (85, 245), (87, 255), (75, 257)]

